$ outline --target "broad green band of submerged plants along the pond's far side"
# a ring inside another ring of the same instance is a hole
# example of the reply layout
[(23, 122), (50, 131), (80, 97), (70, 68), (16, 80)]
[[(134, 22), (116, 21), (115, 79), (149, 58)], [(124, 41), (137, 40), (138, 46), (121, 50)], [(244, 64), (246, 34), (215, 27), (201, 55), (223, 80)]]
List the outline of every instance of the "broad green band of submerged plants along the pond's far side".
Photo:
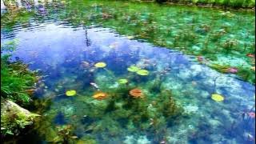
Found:
[[(198, 56), (201, 58), (198, 62), (203, 61), (202, 64), (220, 72), (223, 70), (219, 70), (218, 66), (235, 67), (238, 72), (233, 74), (247, 82), (255, 83), (255, 18), (252, 12), (239, 13), (232, 10), (199, 8), (188, 10), (186, 6), (158, 6), (138, 2), (126, 4), (125, 2), (64, 1), (52, 5), (47, 2), (43, 5), (48, 11), (46, 15), (38, 14), (36, 10), (24, 9), (2, 14), (4, 31), (10, 31), (11, 26), (19, 22), (23, 26), (29, 26), (30, 18), (43, 22), (43, 17), (58, 18), (73, 26), (99, 24), (113, 28), (130, 39), (136, 38), (151, 42), (155, 46), (164, 46), (180, 50), (184, 54)], [(124, 9), (126, 5), (132, 9)], [(161, 9), (162, 12), (154, 13), (157, 9)], [(76, 14), (82, 10), (86, 10), (86, 13)], [(53, 12), (56, 15), (52, 15)], [(243, 22), (246, 24), (244, 25)], [(111, 44), (110, 48), (114, 49), (117, 46)], [(247, 56), (248, 54), (251, 57)], [(212, 66), (215, 64), (218, 66)]]

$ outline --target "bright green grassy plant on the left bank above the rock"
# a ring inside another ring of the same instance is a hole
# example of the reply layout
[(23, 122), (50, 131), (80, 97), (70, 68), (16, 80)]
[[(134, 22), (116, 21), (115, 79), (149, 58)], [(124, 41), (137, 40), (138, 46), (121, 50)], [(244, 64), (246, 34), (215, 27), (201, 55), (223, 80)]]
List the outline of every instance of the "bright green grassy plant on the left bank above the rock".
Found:
[[(14, 50), (8, 46), (1, 49)], [(1, 54), (1, 98), (26, 105), (31, 101), (30, 90), (34, 90), (35, 82), (38, 82), (36, 71), (29, 70), (22, 62), (10, 62), (10, 54)]]

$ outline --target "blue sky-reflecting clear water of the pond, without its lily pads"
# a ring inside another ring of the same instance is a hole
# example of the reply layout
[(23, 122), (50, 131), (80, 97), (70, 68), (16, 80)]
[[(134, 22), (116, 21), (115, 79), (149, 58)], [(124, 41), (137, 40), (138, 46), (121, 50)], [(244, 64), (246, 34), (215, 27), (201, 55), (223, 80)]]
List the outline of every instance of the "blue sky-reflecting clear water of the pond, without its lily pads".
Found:
[[(97, 11), (102, 3), (84, 5)], [(73, 14), (63, 2), (48, 5), (14, 12), (8, 25), (1, 25), (1, 42), (17, 44), (13, 58), (43, 76), (34, 97), (50, 102), (39, 110), (42, 117), (33, 130), (38, 139), (30, 143), (254, 143), (253, 84), (219, 73), (195, 56), (122, 34), (97, 18), (91, 17), (90, 25), (65, 19), (86, 15), (79, 7), (72, 7), (78, 10)], [(94, 66), (97, 62), (106, 66)], [(148, 74), (131, 72), (130, 66)], [(142, 97), (130, 95), (135, 88)], [(69, 90), (76, 94), (67, 96)], [(94, 98), (99, 91), (107, 97)], [(224, 100), (216, 102), (212, 94)], [(69, 133), (62, 134), (65, 130)]]

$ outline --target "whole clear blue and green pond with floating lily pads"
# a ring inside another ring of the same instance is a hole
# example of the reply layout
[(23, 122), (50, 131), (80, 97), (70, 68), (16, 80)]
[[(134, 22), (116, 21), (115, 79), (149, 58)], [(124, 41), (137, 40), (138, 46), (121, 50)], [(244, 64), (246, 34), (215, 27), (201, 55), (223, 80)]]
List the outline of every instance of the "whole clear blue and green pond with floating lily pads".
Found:
[[(254, 143), (253, 80), (207, 65), (253, 66), (235, 49), (246, 43), (252, 52), (254, 14), (133, 2), (21, 6), (2, 9), (1, 42), (14, 43), (13, 59), (42, 74), (34, 94), (42, 117), (26, 135), (38, 138), (26, 142)], [(187, 26), (198, 34), (182, 31)], [(219, 27), (228, 34), (209, 46), (228, 38), (238, 45), (228, 54), (202, 53), (207, 30)]]

